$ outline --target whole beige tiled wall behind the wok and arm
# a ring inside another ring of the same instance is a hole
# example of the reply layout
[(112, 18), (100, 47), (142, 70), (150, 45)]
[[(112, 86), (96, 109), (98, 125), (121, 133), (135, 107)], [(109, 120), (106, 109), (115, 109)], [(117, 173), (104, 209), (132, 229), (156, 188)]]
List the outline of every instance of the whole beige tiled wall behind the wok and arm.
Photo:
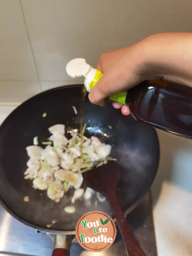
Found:
[(0, 0), (0, 103), (82, 82), (65, 72), (72, 58), (95, 67), (106, 50), (154, 33), (191, 32), (191, 10), (191, 0)]

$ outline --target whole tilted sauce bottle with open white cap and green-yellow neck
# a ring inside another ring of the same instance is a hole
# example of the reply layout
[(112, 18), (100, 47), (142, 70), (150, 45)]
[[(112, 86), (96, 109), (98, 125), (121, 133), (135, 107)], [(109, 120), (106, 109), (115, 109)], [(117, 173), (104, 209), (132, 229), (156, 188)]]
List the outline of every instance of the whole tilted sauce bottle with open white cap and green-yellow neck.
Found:
[[(71, 60), (66, 67), (71, 77), (84, 76), (90, 92), (103, 75), (84, 59)], [(192, 88), (164, 80), (144, 81), (109, 99), (127, 105), (131, 115), (143, 124), (192, 139)]]

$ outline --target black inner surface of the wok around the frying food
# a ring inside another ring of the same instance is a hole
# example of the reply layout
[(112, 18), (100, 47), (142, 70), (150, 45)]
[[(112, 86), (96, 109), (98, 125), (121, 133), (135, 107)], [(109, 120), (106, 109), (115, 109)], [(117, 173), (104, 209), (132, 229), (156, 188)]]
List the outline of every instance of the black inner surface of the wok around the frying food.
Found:
[[(0, 199), (14, 217), (39, 230), (46, 231), (47, 224), (58, 220), (49, 228), (50, 232), (73, 231), (79, 218), (94, 210), (113, 217), (107, 201), (98, 201), (96, 207), (96, 196), (91, 200), (84, 197), (77, 200), (76, 212), (68, 214), (64, 207), (72, 205), (73, 189), (55, 203), (47, 198), (46, 191), (33, 189), (32, 181), (23, 179), (28, 160), (25, 148), (33, 145), (35, 136), (40, 142), (45, 141), (50, 136), (48, 127), (54, 124), (65, 124), (66, 130), (79, 129), (81, 88), (65, 86), (36, 95), (14, 110), (0, 127)], [(72, 106), (76, 107), (77, 115)], [(45, 118), (42, 117), (44, 112), (47, 113)], [(84, 123), (87, 124), (86, 136), (95, 135), (113, 145), (111, 155), (117, 158), (122, 170), (117, 196), (122, 209), (130, 212), (156, 175), (159, 144), (155, 130), (131, 116), (123, 116), (111, 104), (104, 108), (93, 105), (87, 97)], [(29, 202), (23, 201), (24, 196), (29, 196)]]

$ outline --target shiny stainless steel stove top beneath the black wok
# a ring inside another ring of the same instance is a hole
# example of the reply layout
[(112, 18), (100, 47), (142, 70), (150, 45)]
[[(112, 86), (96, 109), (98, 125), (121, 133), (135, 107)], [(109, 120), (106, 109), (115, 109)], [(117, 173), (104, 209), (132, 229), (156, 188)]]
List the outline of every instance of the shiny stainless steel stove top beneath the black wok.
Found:
[[(127, 216), (132, 230), (147, 256), (156, 256), (156, 242), (151, 214), (151, 201), (149, 193), (142, 202)], [(45, 233), (37, 233), (35, 229), (25, 226), (14, 219), (0, 206), (0, 256), (5, 255), (30, 255), (51, 256), (53, 242)], [(70, 256), (93, 255), (74, 242)], [(95, 255), (95, 254), (94, 254)], [(104, 251), (98, 252), (100, 256), (125, 256), (124, 244), (117, 228), (117, 236), (114, 244)]]

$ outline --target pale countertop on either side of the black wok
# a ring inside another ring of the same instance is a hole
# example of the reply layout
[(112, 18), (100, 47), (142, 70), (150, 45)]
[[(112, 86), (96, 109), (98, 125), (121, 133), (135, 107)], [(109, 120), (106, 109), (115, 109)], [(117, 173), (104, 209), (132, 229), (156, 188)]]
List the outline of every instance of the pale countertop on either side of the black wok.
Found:
[[(0, 124), (16, 106), (0, 106)], [(192, 140), (157, 131), (160, 164), (151, 187), (158, 256), (192, 256)]]

